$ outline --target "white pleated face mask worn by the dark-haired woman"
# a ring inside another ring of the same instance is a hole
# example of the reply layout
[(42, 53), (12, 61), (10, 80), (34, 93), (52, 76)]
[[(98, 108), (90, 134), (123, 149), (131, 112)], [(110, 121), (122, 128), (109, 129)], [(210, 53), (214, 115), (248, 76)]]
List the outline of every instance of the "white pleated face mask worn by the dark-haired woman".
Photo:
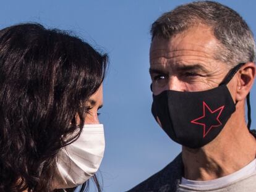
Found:
[(103, 124), (87, 124), (79, 138), (59, 151), (54, 188), (86, 182), (100, 167), (105, 151)]

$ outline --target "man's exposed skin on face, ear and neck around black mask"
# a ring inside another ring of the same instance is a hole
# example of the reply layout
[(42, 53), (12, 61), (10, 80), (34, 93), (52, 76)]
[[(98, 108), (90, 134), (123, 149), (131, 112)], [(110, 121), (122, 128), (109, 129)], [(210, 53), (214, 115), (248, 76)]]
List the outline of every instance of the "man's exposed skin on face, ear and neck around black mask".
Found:
[[(217, 87), (232, 68), (214, 59), (218, 47), (220, 43), (213, 32), (202, 24), (169, 40), (155, 37), (150, 48), (153, 94)], [(236, 111), (215, 140), (198, 149), (182, 146), (185, 178), (213, 180), (236, 172), (255, 159), (256, 141), (245, 122), (245, 99), (254, 78), (255, 64), (249, 62), (229, 81), (229, 92), (237, 102)]]

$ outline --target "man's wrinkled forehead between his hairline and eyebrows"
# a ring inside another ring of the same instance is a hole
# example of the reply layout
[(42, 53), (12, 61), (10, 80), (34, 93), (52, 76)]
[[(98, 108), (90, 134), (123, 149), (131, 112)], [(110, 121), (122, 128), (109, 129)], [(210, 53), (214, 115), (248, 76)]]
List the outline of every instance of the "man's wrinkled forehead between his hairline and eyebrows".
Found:
[[(210, 27), (197, 25), (172, 38), (156, 37), (151, 42), (150, 65), (169, 64), (202, 64), (216, 67), (215, 54), (219, 41), (213, 35)], [(214, 69), (210, 69), (214, 70)]]

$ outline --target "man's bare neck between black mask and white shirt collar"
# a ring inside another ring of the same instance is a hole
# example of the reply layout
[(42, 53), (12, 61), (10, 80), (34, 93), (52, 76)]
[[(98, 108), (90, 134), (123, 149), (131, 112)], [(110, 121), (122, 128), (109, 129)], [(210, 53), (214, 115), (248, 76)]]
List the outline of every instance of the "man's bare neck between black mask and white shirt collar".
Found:
[(234, 173), (255, 159), (254, 136), (243, 119), (234, 120), (240, 115), (233, 114), (211, 143), (199, 149), (182, 148), (185, 178), (213, 180)]

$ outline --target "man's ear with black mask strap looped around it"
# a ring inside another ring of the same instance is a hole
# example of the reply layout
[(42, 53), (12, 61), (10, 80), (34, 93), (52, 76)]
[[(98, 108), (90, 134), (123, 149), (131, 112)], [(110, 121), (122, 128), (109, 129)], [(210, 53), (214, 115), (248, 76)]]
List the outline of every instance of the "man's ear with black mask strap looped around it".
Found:
[(244, 64), (238, 71), (238, 83), (236, 87), (236, 101), (242, 101), (250, 92), (254, 84), (256, 67), (253, 62)]

